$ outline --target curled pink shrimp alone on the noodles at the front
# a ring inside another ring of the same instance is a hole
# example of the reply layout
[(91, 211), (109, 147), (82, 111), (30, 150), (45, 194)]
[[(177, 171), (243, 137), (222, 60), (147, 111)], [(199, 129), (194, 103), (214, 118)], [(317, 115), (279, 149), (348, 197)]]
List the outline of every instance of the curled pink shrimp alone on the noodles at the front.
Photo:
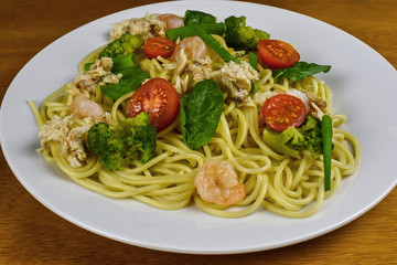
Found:
[(208, 160), (194, 178), (198, 195), (218, 205), (232, 205), (245, 197), (245, 187), (237, 180), (237, 173), (229, 162)]

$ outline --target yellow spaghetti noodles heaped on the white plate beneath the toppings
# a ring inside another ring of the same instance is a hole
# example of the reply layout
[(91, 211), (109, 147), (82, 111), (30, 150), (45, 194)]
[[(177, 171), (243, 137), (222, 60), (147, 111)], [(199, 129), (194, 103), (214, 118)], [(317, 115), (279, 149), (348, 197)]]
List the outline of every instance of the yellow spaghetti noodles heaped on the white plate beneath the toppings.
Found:
[[(226, 47), (224, 40), (216, 40)], [(82, 60), (84, 64), (93, 62), (98, 52), (93, 52)], [(229, 49), (233, 52), (233, 50)], [(141, 56), (142, 57), (142, 56)], [(169, 81), (178, 78), (192, 84), (192, 76), (178, 68), (167, 67), (172, 62), (160, 59), (140, 61), (140, 67), (150, 77), (163, 77)], [(216, 73), (223, 62), (212, 54), (213, 72)], [(219, 76), (212, 77), (217, 83)], [(286, 77), (275, 82), (270, 70), (259, 66), (258, 91), (271, 89), (308, 91), (328, 103), (332, 114), (332, 95), (330, 87), (310, 76), (300, 82)], [(129, 93), (112, 100), (100, 93), (99, 86), (92, 99), (110, 113), (110, 124), (118, 124), (127, 118), (126, 100)], [(73, 95), (67, 86), (51, 94), (41, 104), (40, 109), (30, 100), (37, 125), (41, 127), (54, 117), (65, 118), (71, 114)], [(301, 151), (300, 159), (280, 155), (271, 150), (261, 139), (262, 126), (256, 106), (242, 107), (233, 100), (226, 100), (219, 125), (204, 147), (191, 150), (185, 146), (179, 120), (158, 134), (153, 158), (147, 163), (133, 161), (131, 167), (118, 171), (106, 170), (95, 155), (89, 155), (82, 167), (72, 167), (61, 151), (60, 142), (50, 142), (43, 148), (43, 157), (55, 162), (73, 181), (92, 191), (110, 198), (131, 198), (142, 203), (164, 210), (178, 210), (194, 203), (202, 211), (224, 218), (240, 218), (258, 209), (288, 218), (307, 218), (321, 208), (323, 201), (335, 192), (344, 177), (357, 170), (361, 150), (358, 141), (351, 134), (339, 129), (346, 120), (341, 114), (332, 114), (334, 125), (332, 150), (332, 190), (324, 192), (324, 172), (322, 155)], [(72, 117), (72, 127), (89, 125), (86, 119)], [(202, 200), (194, 187), (197, 169), (208, 159), (229, 161), (244, 183), (246, 197), (233, 206), (216, 205)]]

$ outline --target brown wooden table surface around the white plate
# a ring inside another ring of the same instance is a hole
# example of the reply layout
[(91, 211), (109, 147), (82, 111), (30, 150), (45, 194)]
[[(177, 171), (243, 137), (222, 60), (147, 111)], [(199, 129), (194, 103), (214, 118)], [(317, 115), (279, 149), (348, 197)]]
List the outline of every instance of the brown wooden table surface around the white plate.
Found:
[[(57, 38), (103, 15), (154, 2), (0, 0), (0, 98), (20, 68)], [(397, 1), (256, 2), (333, 24), (397, 67)], [(363, 216), (318, 239), (266, 252), (206, 256), (131, 246), (65, 221), (26, 192), (2, 153), (0, 176), (0, 264), (397, 264), (397, 190)]]

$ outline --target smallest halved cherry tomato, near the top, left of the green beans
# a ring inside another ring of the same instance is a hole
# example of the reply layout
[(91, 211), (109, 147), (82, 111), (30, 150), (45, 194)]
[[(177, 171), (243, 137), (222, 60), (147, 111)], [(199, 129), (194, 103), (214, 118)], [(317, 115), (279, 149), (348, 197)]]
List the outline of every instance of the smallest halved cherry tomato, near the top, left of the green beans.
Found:
[(171, 56), (175, 46), (176, 44), (167, 38), (148, 38), (143, 43), (143, 52), (148, 59), (157, 59), (159, 55), (167, 59)]

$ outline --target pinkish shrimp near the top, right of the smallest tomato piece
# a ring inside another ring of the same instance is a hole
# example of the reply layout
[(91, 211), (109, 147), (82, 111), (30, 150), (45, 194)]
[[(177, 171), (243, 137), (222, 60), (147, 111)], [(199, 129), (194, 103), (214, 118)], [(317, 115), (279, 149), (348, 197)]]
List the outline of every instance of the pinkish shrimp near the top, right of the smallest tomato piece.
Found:
[(197, 61), (205, 57), (208, 47), (200, 36), (189, 36), (176, 44), (170, 60), (175, 62), (182, 51), (185, 53), (189, 61)]

